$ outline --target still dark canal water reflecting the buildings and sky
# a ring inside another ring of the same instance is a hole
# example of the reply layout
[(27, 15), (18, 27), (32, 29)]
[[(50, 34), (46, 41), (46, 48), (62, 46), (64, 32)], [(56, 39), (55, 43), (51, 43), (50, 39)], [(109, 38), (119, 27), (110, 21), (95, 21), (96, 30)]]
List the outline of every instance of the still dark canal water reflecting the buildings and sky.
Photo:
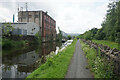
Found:
[[(23, 49), (3, 50), (2, 78), (25, 78), (31, 74), (40, 64), (45, 62), (45, 56), (56, 51), (61, 44), (42, 43), (41, 46), (33, 46)], [(38, 61), (41, 59), (41, 62)]]

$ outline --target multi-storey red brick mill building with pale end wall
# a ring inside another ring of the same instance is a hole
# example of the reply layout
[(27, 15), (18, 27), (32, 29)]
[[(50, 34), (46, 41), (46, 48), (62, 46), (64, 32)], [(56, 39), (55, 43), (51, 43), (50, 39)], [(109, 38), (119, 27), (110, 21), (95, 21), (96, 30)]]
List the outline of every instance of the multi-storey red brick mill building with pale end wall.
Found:
[(39, 25), (42, 41), (56, 40), (56, 21), (43, 11), (19, 11), (18, 22), (34, 22)]

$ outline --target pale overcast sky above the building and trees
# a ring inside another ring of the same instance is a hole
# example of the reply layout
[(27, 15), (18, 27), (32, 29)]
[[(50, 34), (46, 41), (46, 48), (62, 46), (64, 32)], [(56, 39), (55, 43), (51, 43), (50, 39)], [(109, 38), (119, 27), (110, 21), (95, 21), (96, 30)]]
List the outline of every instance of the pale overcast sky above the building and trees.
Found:
[[(12, 22), (17, 8), (25, 10), (27, 0), (0, 1), (0, 22)], [(66, 33), (84, 33), (93, 27), (101, 28), (109, 0), (29, 0), (28, 10), (48, 11), (56, 20), (56, 27)]]

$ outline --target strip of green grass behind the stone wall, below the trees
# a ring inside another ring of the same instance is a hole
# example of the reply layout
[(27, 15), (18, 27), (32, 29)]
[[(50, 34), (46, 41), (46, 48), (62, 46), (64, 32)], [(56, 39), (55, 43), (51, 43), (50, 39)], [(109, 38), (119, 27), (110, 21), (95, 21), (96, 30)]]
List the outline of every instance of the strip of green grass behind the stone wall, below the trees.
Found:
[(116, 49), (120, 50), (120, 44), (116, 43), (116, 42), (111, 42), (111, 41), (106, 41), (106, 40), (92, 40), (92, 42), (107, 45), (110, 48), (116, 48)]

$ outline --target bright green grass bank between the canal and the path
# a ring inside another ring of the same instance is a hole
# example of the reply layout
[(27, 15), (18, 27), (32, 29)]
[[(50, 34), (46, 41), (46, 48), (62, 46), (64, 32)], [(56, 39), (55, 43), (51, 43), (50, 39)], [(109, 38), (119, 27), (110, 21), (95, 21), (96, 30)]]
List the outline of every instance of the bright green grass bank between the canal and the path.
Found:
[(27, 78), (64, 78), (75, 51), (76, 42), (77, 40), (74, 40), (62, 52), (59, 52), (54, 57), (48, 58), (45, 64), (42, 64)]

